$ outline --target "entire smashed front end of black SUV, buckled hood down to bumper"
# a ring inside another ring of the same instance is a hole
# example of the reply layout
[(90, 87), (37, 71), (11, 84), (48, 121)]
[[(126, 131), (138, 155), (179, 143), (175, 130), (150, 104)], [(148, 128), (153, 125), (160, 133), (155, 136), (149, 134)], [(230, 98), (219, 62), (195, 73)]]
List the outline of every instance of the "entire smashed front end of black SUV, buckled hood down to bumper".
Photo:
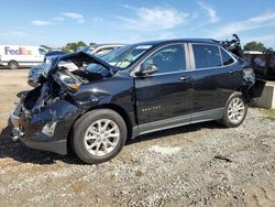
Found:
[[(65, 61), (79, 69), (69, 72), (59, 67)], [(85, 72), (89, 64), (107, 67), (100, 59), (81, 52), (46, 59), (40, 86), (23, 95), (11, 115), (11, 139), (29, 148), (66, 154), (70, 128), (85, 112), (74, 99), (74, 92), (82, 84), (103, 78), (103, 75)]]

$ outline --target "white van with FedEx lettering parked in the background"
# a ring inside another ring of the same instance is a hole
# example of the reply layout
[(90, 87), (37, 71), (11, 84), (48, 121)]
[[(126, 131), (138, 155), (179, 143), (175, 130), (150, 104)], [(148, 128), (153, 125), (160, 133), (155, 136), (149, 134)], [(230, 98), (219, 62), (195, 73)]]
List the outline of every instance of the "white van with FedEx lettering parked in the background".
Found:
[(0, 65), (10, 69), (43, 63), (47, 51), (41, 46), (0, 45)]

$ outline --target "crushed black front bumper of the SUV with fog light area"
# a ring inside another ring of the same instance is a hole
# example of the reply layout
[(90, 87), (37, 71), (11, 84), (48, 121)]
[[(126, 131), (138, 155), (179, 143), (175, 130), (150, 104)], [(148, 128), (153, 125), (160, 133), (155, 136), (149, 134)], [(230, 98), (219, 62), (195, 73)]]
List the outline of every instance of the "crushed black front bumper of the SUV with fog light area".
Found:
[(67, 154), (67, 138), (75, 119), (82, 110), (66, 100), (26, 110), (21, 101), (11, 115), (11, 139), (26, 146)]

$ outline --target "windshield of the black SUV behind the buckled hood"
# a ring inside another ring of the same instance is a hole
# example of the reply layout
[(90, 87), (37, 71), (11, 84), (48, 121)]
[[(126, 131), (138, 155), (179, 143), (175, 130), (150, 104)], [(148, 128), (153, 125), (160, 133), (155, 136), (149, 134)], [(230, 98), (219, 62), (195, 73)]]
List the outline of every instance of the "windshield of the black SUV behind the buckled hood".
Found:
[[(150, 50), (153, 45), (129, 45), (117, 48), (101, 59), (117, 67), (119, 70), (128, 68), (135, 59), (138, 59), (143, 53)], [(90, 64), (88, 70), (98, 70), (99, 65)]]

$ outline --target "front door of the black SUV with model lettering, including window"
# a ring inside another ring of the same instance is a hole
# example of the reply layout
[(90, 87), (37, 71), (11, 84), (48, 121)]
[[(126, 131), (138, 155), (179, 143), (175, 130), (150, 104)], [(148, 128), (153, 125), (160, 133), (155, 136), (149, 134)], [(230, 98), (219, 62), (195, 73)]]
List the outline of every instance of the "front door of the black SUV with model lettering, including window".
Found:
[[(166, 126), (190, 121), (193, 81), (186, 62), (186, 45), (172, 44), (155, 51), (145, 65), (155, 64), (158, 70), (135, 77), (139, 124), (163, 121)], [(161, 122), (158, 122), (161, 123)]]

